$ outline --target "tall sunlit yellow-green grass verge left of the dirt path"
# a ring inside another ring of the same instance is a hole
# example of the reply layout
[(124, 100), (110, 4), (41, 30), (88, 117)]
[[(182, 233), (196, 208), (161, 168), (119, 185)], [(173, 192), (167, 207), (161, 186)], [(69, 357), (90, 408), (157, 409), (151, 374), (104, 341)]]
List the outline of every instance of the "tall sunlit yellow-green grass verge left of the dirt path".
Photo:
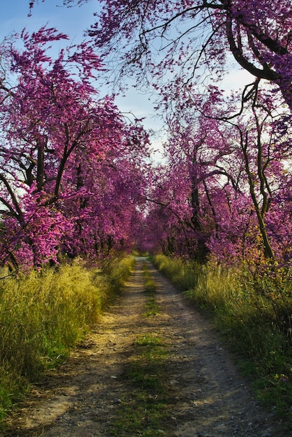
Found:
[(100, 270), (79, 260), (1, 281), (0, 421), (89, 332), (134, 263), (134, 257), (118, 258)]

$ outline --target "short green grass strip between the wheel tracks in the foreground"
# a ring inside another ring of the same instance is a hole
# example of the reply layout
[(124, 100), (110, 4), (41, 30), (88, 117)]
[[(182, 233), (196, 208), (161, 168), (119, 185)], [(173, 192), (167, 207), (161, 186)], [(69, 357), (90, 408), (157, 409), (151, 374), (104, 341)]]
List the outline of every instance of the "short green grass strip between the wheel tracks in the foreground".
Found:
[(131, 399), (122, 399), (112, 436), (161, 436), (167, 424), (167, 347), (147, 334), (137, 336), (130, 353), (123, 378), (132, 385)]

